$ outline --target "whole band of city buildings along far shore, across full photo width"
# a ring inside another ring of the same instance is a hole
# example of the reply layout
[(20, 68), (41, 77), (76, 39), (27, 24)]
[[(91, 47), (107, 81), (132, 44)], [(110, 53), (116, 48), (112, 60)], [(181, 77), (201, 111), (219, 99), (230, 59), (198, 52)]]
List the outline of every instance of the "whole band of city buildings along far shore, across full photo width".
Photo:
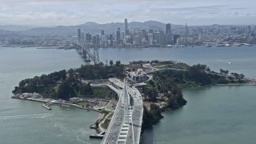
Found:
[[(78, 29), (78, 34), (52, 34), (45, 36), (0, 34), (0, 46), (58, 46), (72, 47), (77, 39), (90, 42), (91, 47), (158, 47), (218, 45), (230, 46), (256, 43), (256, 26), (178, 26), (170, 23), (148, 28), (134, 28), (124, 20), (124, 26), (88, 33)], [(56, 31), (56, 30), (55, 30)], [(108, 34), (107, 34), (107, 33)]]

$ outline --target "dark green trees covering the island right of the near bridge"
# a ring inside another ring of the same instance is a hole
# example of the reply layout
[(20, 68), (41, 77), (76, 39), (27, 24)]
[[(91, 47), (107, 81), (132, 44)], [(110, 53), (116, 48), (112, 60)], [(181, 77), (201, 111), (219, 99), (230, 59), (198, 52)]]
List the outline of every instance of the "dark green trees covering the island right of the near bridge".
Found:
[[(139, 62), (132, 62), (140, 64)], [(187, 66), (178, 63), (174, 67), (180, 67), (180, 70), (170, 70), (173, 62), (154, 62), (155, 66), (164, 66), (164, 69), (153, 72), (153, 79), (146, 82), (145, 101), (157, 102), (163, 101), (167, 105), (160, 109), (155, 104), (150, 104), (150, 110), (144, 109), (143, 128), (152, 126), (162, 118), (161, 111), (170, 109), (175, 110), (186, 104), (182, 96), (182, 88), (189, 86), (206, 86), (210, 84), (226, 84), (230, 82), (242, 82), (243, 74), (237, 74), (235, 77), (227, 76), (228, 71), (222, 70), (221, 74), (210, 71), (206, 65)], [(151, 62), (151, 65), (153, 62)], [(231, 74), (234, 75), (234, 74)], [(162, 96), (162, 97), (161, 97)], [(160, 98), (160, 99), (159, 99)], [(162, 99), (161, 99), (162, 98)]]

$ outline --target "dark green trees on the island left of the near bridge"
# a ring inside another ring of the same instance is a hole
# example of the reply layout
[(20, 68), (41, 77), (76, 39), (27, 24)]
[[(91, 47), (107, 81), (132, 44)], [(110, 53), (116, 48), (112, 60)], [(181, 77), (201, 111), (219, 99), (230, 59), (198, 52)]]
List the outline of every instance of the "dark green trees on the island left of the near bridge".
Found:
[(60, 70), (51, 74), (27, 78), (19, 82), (13, 90), (14, 94), (38, 93), (45, 98), (69, 99), (72, 97), (109, 97), (106, 88), (91, 87), (82, 79), (106, 79), (109, 77), (124, 78), (124, 68), (121, 62), (116, 65), (86, 65), (78, 69)]

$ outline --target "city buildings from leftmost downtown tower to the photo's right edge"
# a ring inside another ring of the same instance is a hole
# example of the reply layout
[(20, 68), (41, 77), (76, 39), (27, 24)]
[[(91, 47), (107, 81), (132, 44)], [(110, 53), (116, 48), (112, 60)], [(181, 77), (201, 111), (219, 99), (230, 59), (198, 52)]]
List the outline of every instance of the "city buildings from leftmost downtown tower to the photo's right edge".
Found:
[(237, 44), (256, 43), (256, 26), (183, 26), (182, 29), (171, 29), (167, 23), (165, 29), (131, 30), (127, 19), (124, 30), (120, 27), (112, 34), (84, 33), (78, 29), (78, 39), (90, 42), (96, 47), (158, 47), (158, 46), (190, 46), (205, 44)]

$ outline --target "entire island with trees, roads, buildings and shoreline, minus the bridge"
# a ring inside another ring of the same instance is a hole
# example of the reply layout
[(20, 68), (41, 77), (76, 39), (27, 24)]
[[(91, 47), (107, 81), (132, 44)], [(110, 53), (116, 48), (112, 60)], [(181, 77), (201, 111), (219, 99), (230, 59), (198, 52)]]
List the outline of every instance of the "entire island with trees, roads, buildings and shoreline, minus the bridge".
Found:
[[(228, 70), (222, 69), (214, 72), (201, 64), (189, 66), (182, 62), (154, 60), (125, 65), (120, 61), (110, 61), (107, 65), (82, 65), (77, 69), (24, 79), (14, 87), (12, 98), (44, 102), (48, 110), (50, 104), (56, 103), (98, 111), (101, 118), (90, 127), (104, 134), (118, 101), (115, 92), (108, 87), (111, 86), (109, 78), (126, 78), (142, 93), (142, 130), (163, 118), (163, 111), (186, 105), (182, 96), (183, 88), (217, 84), (255, 85), (255, 81), (245, 78), (244, 74), (229, 74)], [(95, 137), (102, 138), (102, 135)]]

